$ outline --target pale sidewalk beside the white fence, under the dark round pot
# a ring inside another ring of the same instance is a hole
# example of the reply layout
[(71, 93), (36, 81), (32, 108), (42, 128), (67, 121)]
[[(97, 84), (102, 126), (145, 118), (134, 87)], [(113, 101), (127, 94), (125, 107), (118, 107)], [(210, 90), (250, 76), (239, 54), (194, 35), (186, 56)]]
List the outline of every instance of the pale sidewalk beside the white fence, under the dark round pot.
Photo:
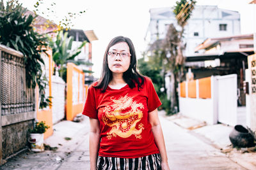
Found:
[[(163, 114), (162, 114), (163, 115)], [(229, 134), (234, 127), (225, 124), (207, 125), (205, 122), (188, 118), (180, 113), (172, 116), (165, 116), (174, 124), (188, 129), (188, 132), (201, 139), (205, 143), (220, 149), (220, 152), (245, 167), (246, 169), (256, 169), (256, 150), (248, 151), (247, 148), (233, 148), (229, 139)]]

